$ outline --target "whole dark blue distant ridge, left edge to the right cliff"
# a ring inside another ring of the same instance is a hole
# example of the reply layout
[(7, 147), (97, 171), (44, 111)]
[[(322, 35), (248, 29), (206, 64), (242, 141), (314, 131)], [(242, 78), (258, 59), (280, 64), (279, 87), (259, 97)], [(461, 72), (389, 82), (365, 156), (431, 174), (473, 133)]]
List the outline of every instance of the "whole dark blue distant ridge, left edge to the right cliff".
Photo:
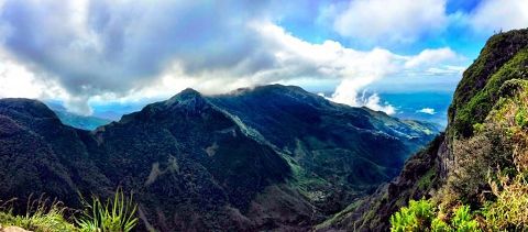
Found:
[(161, 231), (304, 231), (394, 177), (437, 133), (279, 85), (186, 89), (95, 131), (38, 101), (1, 99), (0, 197), (46, 192), (75, 207), (77, 191), (123, 186)]

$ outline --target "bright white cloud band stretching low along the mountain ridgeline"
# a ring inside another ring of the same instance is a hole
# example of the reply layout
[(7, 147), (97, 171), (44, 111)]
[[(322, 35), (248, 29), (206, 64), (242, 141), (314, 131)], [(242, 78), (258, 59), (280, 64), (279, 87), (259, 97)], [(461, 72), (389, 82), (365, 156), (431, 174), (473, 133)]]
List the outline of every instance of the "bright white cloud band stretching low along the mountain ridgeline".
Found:
[[(419, 60), (425, 56), (424, 54), (443, 54), (450, 49), (430, 49), (416, 56), (402, 56), (382, 48), (360, 52), (346, 48), (333, 41), (311, 44), (288, 34), (284, 29), (271, 22), (252, 22), (250, 27), (261, 38), (262, 49), (274, 57), (273, 65), (256, 69), (254, 73), (239, 73), (238, 69), (243, 67), (234, 66), (231, 69), (188, 74), (178, 60), (174, 60), (158, 76), (151, 78), (150, 82), (131, 88), (125, 93), (116, 95), (107, 91), (85, 97), (67, 93), (57, 82), (54, 82), (54, 90), (50, 92), (50, 86), (40, 82), (40, 80), (46, 79), (46, 77), (40, 76), (43, 74), (32, 73), (31, 69), (3, 57), (3, 64), (15, 64), (11, 69), (23, 70), (24, 75), (14, 70), (3, 75), (2, 77), (9, 79), (9, 81), (4, 81), (8, 85), (3, 85), (3, 89), (0, 88), (0, 93), (4, 97), (31, 98), (50, 98), (55, 95), (55, 98), (65, 100), (69, 110), (86, 114), (91, 112), (87, 102), (125, 102), (155, 99), (172, 96), (187, 87), (205, 93), (220, 93), (240, 87), (272, 82), (295, 82), (295, 79), (329, 79), (340, 82), (329, 99), (353, 107), (364, 106), (392, 114), (395, 113), (394, 107), (387, 102), (381, 102), (380, 97), (375, 93), (365, 96), (361, 91), (391, 74), (405, 73), (409, 68), (415, 68), (415, 65), (408, 65), (409, 63), (433, 67), (443, 62), (449, 62), (449, 58), (457, 57), (457, 55), (446, 56), (442, 59), (433, 59), (427, 62), (427, 65), (422, 65)], [(240, 64), (240, 66), (246, 64)], [(24, 81), (24, 84), (21, 81)], [(20, 92), (21, 89), (28, 90), (28, 93)]]

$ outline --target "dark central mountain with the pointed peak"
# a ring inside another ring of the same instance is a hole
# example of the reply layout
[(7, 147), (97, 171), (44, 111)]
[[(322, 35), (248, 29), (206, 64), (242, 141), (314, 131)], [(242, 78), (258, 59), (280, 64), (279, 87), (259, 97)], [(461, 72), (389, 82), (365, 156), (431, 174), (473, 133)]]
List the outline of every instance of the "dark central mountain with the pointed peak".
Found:
[[(290, 175), (276, 152), (249, 137), (190, 89), (124, 115), (95, 136), (112, 154), (101, 161), (106, 175), (114, 183), (130, 179), (141, 186), (145, 213), (157, 214), (151, 223), (164, 225), (164, 231), (228, 229), (257, 192)], [(219, 212), (226, 219), (211, 220)], [(165, 218), (178, 218), (176, 225)]]

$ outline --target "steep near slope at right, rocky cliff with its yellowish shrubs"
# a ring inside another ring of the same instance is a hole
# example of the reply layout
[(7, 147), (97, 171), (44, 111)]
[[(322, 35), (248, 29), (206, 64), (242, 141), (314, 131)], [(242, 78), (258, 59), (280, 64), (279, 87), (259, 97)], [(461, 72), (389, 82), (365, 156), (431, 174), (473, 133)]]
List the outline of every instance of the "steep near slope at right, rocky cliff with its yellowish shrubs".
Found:
[[(508, 221), (522, 220), (515, 212), (528, 210), (526, 205), (515, 205), (528, 196), (528, 188), (516, 180), (526, 175), (528, 161), (527, 41), (528, 30), (491, 37), (457, 88), (447, 133), (413, 156), (391, 184), (318, 229), (388, 230), (394, 212), (409, 199), (421, 198), (440, 205), (444, 216), (461, 205), (480, 209), (475, 216), (481, 217), (483, 230), (528, 229), (526, 221)], [(508, 219), (497, 219), (497, 210)]]

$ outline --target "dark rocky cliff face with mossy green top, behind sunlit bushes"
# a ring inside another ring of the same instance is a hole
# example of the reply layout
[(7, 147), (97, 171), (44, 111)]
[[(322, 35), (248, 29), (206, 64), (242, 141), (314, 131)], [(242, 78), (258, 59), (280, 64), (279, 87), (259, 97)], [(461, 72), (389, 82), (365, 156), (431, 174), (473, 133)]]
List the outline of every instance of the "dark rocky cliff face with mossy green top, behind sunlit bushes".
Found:
[[(409, 199), (419, 200), (437, 195), (437, 190), (446, 185), (447, 177), (464, 165), (457, 162), (462, 152), (459, 152), (461, 145), (455, 147), (454, 144), (475, 140), (474, 132), (482, 130), (482, 123), (491, 117), (494, 106), (497, 108), (501, 97), (504, 97), (501, 95), (502, 87), (507, 89), (504, 85), (509, 85), (508, 80), (512, 79), (528, 79), (528, 30), (492, 36), (479, 58), (464, 71), (449, 110), (446, 133), (410, 157), (393, 181), (380, 187), (372, 196), (349, 206), (317, 229), (386, 231), (389, 217), (406, 206)], [(493, 145), (491, 150), (493, 153)], [(476, 158), (475, 156), (474, 159)], [(479, 192), (480, 188), (482, 186), (475, 187), (475, 191)]]

